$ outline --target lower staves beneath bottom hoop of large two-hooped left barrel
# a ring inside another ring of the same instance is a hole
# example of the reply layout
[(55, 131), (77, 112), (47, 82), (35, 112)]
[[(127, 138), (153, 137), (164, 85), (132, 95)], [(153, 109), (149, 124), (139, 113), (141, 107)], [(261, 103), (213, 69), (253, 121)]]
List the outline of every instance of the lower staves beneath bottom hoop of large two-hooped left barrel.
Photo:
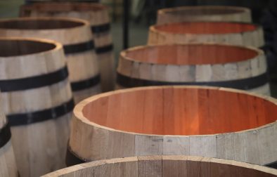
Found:
[(72, 113), (23, 126), (11, 127), (20, 176), (41, 176), (65, 167)]

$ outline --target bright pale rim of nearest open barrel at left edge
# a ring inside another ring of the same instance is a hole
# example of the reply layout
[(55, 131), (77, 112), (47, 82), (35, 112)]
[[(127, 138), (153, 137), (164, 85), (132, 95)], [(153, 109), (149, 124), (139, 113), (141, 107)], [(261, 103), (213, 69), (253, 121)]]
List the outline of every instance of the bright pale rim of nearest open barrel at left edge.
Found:
[(23, 54), (23, 55), (11, 55), (11, 56), (5, 56), (5, 57), (0, 56), (0, 59), (18, 58), (18, 57), (30, 56), (30, 55), (44, 55), (45, 53), (57, 52), (57, 51), (63, 50), (63, 45), (60, 44), (60, 42), (53, 41), (50, 39), (41, 39), (41, 38), (33, 38), (33, 37), (0, 37), (0, 41), (34, 41), (37, 43), (46, 43), (46, 44), (51, 44), (51, 45), (55, 46), (54, 48), (51, 48), (50, 50), (41, 51), (38, 53), (30, 53), (30, 54)]

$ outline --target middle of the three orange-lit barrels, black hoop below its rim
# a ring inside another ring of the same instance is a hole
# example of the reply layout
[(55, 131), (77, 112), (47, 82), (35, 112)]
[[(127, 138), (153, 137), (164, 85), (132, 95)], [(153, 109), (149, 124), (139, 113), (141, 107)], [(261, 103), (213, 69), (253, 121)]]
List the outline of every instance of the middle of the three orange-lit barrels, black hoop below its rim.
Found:
[(255, 91), (270, 96), (262, 50), (228, 44), (162, 44), (120, 53), (117, 89), (200, 85)]

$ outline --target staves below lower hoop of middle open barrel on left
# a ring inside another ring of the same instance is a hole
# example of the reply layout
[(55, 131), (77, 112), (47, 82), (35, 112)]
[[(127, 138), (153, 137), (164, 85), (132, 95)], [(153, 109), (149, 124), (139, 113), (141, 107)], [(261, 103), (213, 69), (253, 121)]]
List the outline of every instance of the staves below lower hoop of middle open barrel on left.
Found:
[(93, 86), (89, 89), (84, 89), (82, 91), (74, 91), (73, 98), (75, 104), (77, 104), (85, 98), (89, 98), (90, 96), (94, 96), (98, 93), (101, 93), (101, 84), (97, 84), (96, 86)]

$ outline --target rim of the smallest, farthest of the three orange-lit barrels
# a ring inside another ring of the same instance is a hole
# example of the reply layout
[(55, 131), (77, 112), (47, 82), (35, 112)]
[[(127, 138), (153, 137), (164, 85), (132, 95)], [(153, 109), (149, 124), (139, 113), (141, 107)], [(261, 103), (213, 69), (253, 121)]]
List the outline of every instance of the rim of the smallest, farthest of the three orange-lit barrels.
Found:
[[(228, 33), (191, 33), (191, 32), (186, 32), (186, 33), (179, 33), (179, 32), (165, 32), (165, 31), (161, 31), (159, 29), (157, 29), (157, 27), (160, 26), (168, 26), (168, 25), (179, 25), (179, 24), (186, 24), (186, 23), (230, 23), (230, 24), (243, 24), (243, 25), (252, 25), (255, 27), (255, 29), (252, 30), (247, 30), (247, 31), (243, 31), (243, 32), (228, 32)], [(200, 21), (189, 21), (189, 22), (172, 22), (172, 23), (166, 23), (166, 24), (162, 24), (162, 25), (151, 25), (149, 27), (149, 31), (150, 32), (155, 32), (155, 33), (159, 33), (159, 34), (191, 34), (191, 35), (210, 35), (210, 34), (216, 34), (216, 35), (226, 35), (226, 34), (244, 34), (246, 32), (255, 32), (255, 31), (259, 31), (262, 30), (262, 25), (259, 25), (257, 23), (253, 23), (253, 22), (219, 22), (219, 21), (204, 21), (204, 20), (200, 20)]]

